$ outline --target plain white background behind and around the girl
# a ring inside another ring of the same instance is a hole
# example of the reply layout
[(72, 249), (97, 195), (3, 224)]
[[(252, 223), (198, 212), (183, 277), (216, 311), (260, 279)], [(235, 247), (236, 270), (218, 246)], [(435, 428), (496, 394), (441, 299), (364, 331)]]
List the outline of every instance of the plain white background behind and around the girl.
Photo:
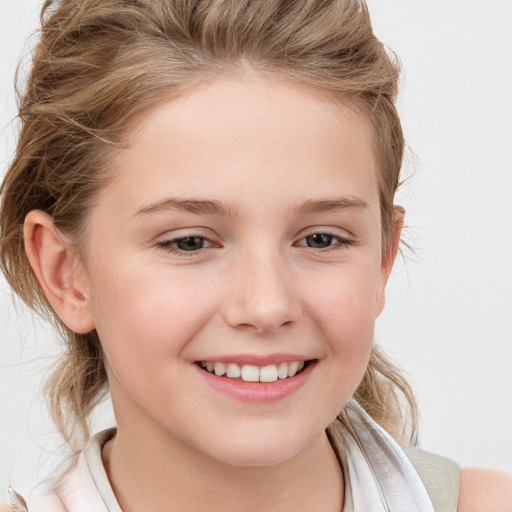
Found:
[[(40, 0), (0, 0), (0, 171), (13, 153), (14, 69)], [(371, 0), (403, 65), (410, 151), (398, 194), (407, 253), (376, 340), (405, 369), (421, 446), (512, 472), (512, 1)], [(40, 399), (55, 335), (0, 282), (0, 499), (24, 494), (65, 449)], [(96, 428), (112, 421), (108, 408)]]

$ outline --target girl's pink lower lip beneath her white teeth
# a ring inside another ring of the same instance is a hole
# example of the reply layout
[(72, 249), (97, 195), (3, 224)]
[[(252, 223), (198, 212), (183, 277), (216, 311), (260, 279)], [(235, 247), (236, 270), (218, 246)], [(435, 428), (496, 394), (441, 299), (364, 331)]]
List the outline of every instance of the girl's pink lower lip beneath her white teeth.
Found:
[(263, 404), (278, 402), (298, 391), (311, 375), (316, 361), (310, 361), (306, 368), (293, 377), (274, 382), (245, 382), (242, 380), (217, 377), (194, 365), (209, 386), (240, 401)]

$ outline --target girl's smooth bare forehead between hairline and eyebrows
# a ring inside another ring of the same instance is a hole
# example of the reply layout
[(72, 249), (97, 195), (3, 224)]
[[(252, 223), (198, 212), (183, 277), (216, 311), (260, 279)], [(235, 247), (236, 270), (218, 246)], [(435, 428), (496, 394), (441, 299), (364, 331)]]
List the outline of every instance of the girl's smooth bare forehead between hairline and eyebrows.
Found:
[(283, 204), (284, 191), (292, 202), (378, 197), (364, 116), (299, 84), (255, 77), (203, 83), (146, 112), (127, 137), (112, 186), (134, 209), (191, 192)]

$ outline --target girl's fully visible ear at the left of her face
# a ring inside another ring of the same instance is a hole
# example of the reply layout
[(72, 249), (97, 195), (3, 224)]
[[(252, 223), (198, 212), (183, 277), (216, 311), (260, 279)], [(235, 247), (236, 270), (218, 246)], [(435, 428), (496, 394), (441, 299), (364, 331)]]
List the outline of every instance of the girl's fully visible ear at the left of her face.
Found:
[(55, 313), (73, 332), (92, 331), (85, 272), (76, 251), (40, 210), (27, 214), (23, 235), (30, 266)]

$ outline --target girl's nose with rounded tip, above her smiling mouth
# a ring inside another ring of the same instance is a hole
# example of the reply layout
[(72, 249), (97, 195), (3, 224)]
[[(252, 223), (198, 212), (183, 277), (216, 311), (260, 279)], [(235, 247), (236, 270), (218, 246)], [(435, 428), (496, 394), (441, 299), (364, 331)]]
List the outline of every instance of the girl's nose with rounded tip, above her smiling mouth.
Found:
[(225, 308), (231, 326), (270, 334), (299, 319), (301, 305), (293, 276), (276, 255), (253, 252), (238, 262), (231, 277)]

